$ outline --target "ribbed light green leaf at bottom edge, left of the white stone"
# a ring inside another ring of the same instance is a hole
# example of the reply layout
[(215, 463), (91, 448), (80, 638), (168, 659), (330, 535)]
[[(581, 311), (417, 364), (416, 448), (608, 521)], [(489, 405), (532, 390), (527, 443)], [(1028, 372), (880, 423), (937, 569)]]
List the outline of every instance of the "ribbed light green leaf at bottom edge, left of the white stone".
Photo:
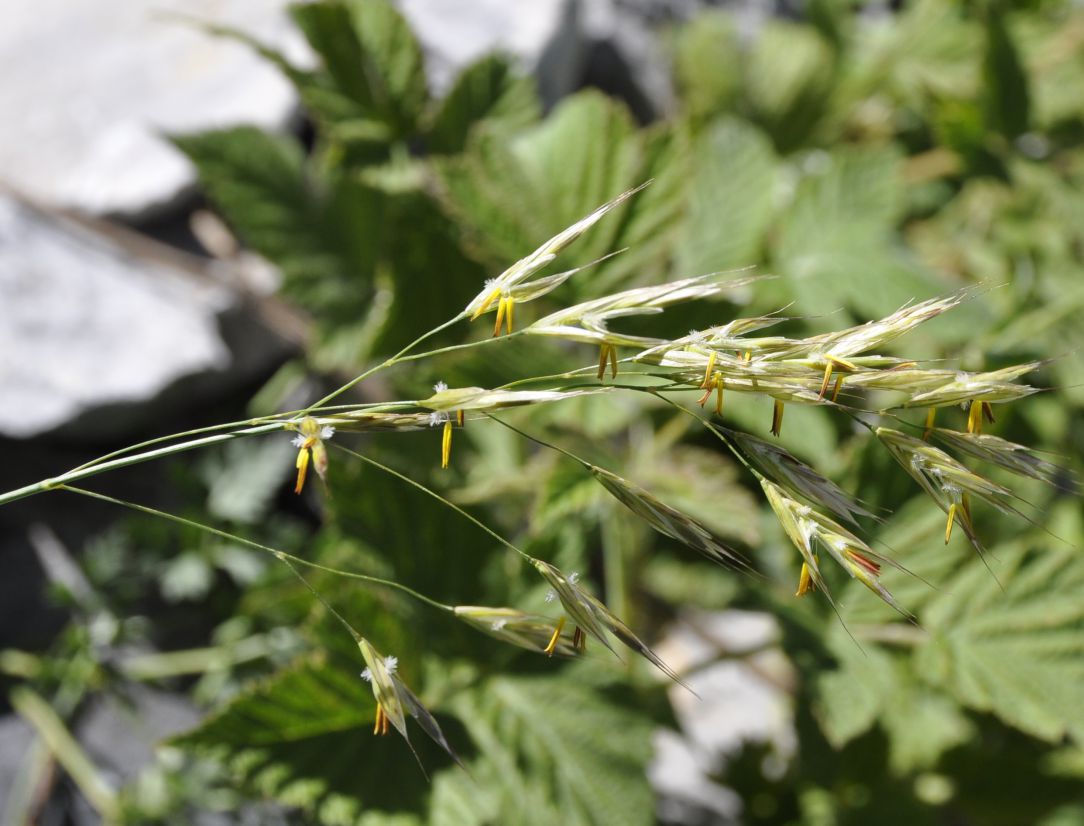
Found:
[(655, 823), (650, 721), (570, 676), (499, 676), (456, 698), (479, 756), (470, 779), (437, 776), (430, 823)]

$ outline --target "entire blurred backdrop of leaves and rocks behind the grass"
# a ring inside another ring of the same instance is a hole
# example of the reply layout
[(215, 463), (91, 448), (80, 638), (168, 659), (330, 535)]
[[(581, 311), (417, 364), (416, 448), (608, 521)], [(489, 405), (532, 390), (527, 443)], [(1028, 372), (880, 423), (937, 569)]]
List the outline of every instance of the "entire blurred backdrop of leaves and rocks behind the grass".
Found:
[[(701, 697), (317, 578), (464, 753), (469, 775), (420, 745), (431, 783), (370, 736), (357, 650), (288, 571), (63, 493), (2, 506), (4, 824), (1084, 826), (1080, 3), (8, 0), (0, 21), (3, 490), (304, 406), (647, 179), (562, 262), (628, 251), (524, 312), (754, 264), (780, 278), (668, 313), (669, 333), (780, 307), (809, 333), (980, 285), (894, 351), (1048, 359), (1048, 391), (993, 431), (1067, 468), (1011, 480), (1034, 524), (981, 513), (988, 569), (848, 420), (788, 409), (782, 443), (886, 514), (866, 534), (929, 583), (886, 576), (907, 624), (839, 581), (856, 641), (791, 598), (797, 555), (753, 480), (658, 404), (516, 421), (697, 516), (765, 581), (507, 431), (457, 434), (444, 474), (434, 434), (360, 442), (583, 571)], [(517, 339), (350, 400), (591, 358)], [(765, 435), (766, 399), (727, 405)], [(331, 493), (296, 496), (294, 455), (237, 441), (94, 488), (442, 602), (545, 610), (460, 517), (338, 456)]]

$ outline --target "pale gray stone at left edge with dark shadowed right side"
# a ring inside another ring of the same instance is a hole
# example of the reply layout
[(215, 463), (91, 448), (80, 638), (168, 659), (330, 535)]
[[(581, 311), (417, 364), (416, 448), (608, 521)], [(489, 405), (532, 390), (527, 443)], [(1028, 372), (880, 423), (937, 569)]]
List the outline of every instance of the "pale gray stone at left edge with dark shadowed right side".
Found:
[(229, 272), (0, 191), (0, 436), (116, 438), (272, 369)]

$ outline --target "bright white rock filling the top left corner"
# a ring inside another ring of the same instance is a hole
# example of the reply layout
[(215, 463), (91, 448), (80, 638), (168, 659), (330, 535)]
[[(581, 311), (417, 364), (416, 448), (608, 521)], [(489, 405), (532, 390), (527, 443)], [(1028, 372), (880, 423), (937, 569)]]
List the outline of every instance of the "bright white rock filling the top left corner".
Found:
[(5, 0), (0, 180), (54, 206), (128, 218), (195, 181), (162, 138), (236, 124), (281, 129), (296, 95), (246, 47), (169, 20), (244, 29), (300, 56), (285, 0)]

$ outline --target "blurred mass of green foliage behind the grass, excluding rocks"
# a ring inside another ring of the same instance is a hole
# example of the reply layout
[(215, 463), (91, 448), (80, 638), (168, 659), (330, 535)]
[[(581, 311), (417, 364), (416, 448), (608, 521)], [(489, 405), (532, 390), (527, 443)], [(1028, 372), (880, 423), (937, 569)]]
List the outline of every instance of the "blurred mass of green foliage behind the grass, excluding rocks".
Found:
[[(238, 236), (282, 271), (283, 295), (311, 314), (308, 370), (356, 374), (457, 312), (487, 276), (654, 179), (560, 263), (628, 251), (551, 304), (757, 264), (780, 278), (743, 295), (743, 313), (787, 307), (796, 330), (820, 332), (981, 285), (908, 337), (908, 354), (967, 369), (1050, 359), (1041, 373), (1049, 392), (1014, 405), (995, 431), (1079, 474), (1084, 13), (1043, 0), (928, 0), (877, 15), (854, 7), (813, 1), (805, 22), (767, 21), (754, 37), (723, 12), (704, 13), (669, 37), (679, 113), (642, 127), (593, 91), (543, 117), (531, 83), (501, 56), (430, 100), (420, 47), (384, 0), (323, 0), (294, 9), (318, 68), (263, 50), (300, 92), (311, 151), (253, 128), (175, 140)], [(732, 312), (682, 308), (667, 332)], [(480, 334), (459, 328), (441, 341)], [(514, 340), (417, 362), (389, 374), (382, 392), (420, 398), (438, 378), (492, 386), (552, 374), (589, 361), (581, 349)], [(770, 403), (728, 401), (726, 418), (763, 435)], [(582, 468), (495, 425), (457, 434), (443, 474), (435, 433), (370, 437), (362, 449), (528, 552), (584, 571), (648, 636), (687, 606), (770, 611), (797, 673), (797, 748), (777, 771), (756, 744), (722, 764), (713, 779), (737, 791), (746, 823), (1084, 825), (1084, 525), (1068, 475), (1061, 487), (1021, 490), (1035, 524), (980, 512), (991, 547), (982, 560), (962, 537), (942, 543), (940, 512), (876, 440), (823, 408), (788, 412), (782, 443), (888, 515), (865, 529), (911, 571), (886, 576), (915, 612), (908, 624), (855, 582), (837, 583), (839, 617), (818, 597), (793, 601), (799, 559), (759, 488), (672, 410), (615, 396), (516, 421), (697, 516), (767, 581), (706, 565), (630, 521)], [(544, 585), (491, 538), (341, 455), (326, 501), (309, 501), (319, 526), (310, 529), (311, 513), (283, 515), (289, 453), (271, 441), (230, 446), (188, 480), (188, 506), (442, 602), (545, 610)], [(117, 542), (138, 543), (140, 530)], [(653, 730), (673, 726), (674, 713), (648, 667), (517, 654), (399, 594), (314, 578), (400, 658), (465, 754), (469, 773), (423, 749), (427, 785), (403, 744), (364, 731), (374, 710), (357, 653), (288, 573), (254, 567), (220, 541), (159, 530), (170, 551), (141, 565), (156, 571), (164, 599), (214, 602), (227, 629), (219, 648), (242, 622), (246, 634), (291, 629), (308, 649), (283, 667), (282, 651), (298, 643), (280, 641), (255, 663), (227, 660), (196, 683), (214, 712), (170, 748), (217, 766), (214, 784), (234, 795), (215, 798), (219, 808), (269, 798), (302, 822), (364, 826), (656, 822), (644, 771)], [(88, 566), (136, 558), (103, 547)], [(235, 583), (225, 594), (223, 576)], [(124, 605), (109, 579), (101, 589)], [(65, 637), (55, 656), (79, 645), (90, 660), (101, 647)], [(262, 679), (251, 682), (254, 671)], [(50, 670), (37, 681), (46, 694), (63, 684)], [(154, 805), (139, 784), (122, 797), (133, 822), (177, 822), (199, 805), (201, 783)]]

